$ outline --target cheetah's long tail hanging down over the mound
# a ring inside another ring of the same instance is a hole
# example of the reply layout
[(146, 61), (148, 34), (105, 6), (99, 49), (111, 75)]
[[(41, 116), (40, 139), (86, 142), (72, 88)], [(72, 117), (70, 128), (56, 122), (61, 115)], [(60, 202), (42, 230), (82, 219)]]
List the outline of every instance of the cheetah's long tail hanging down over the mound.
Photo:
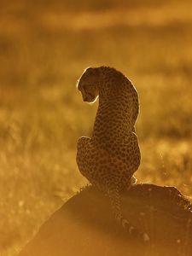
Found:
[(108, 195), (111, 201), (111, 206), (113, 209), (113, 214), (118, 223), (129, 232), (130, 236), (133, 236), (140, 241), (148, 242), (149, 236), (147, 233), (143, 233), (140, 230), (137, 230), (136, 227), (132, 226), (126, 218), (123, 218), (121, 211), (121, 202), (119, 195), (119, 188), (113, 187), (108, 189)]

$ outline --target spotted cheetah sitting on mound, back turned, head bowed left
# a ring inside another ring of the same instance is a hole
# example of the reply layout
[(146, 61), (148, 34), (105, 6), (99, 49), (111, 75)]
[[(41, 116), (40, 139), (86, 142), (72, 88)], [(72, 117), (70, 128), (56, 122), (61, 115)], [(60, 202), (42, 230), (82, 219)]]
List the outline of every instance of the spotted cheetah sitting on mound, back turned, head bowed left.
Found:
[(120, 193), (134, 183), (140, 165), (140, 149), (135, 130), (139, 113), (137, 90), (113, 67), (88, 67), (77, 84), (84, 102), (99, 105), (91, 137), (77, 143), (77, 165), (89, 182), (108, 195), (114, 218), (131, 236), (148, 241), (121, 211)]

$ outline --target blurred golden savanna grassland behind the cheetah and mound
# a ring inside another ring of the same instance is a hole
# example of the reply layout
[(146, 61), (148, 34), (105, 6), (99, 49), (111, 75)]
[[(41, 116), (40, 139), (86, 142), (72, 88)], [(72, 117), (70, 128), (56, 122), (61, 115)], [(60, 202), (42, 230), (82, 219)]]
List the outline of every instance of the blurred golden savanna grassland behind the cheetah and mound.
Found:
[(116, 67), (137, 87), (138, 180), (192, 196), (190, 0), (0, 5), (0, 255), (87, 183), (75, 163), (97, 108), (75, 87), (85, 67)]

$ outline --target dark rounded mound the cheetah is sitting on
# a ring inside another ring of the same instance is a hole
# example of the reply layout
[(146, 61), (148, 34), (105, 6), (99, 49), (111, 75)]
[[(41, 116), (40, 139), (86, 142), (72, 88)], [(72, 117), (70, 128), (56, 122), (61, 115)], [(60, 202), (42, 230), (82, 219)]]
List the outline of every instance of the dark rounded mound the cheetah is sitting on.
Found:
[(174, 187), (137, 184), (122, 194), (122, 210), (150, 236), (134, 240), (116, 224), (108, 196), (88, 186), (40, 228), (20, 256), (192, 255), (192, 205)]

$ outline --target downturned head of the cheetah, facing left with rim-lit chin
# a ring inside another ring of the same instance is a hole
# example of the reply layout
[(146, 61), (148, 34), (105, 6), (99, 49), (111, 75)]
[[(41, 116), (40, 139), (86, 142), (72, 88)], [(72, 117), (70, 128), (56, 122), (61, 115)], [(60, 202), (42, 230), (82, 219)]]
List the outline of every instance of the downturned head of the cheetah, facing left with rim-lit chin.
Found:
[(84, 102), (95, 102), (99, 96), (99, 73), (96, 68), (88, 67), (80, 77), (77, 87)]

